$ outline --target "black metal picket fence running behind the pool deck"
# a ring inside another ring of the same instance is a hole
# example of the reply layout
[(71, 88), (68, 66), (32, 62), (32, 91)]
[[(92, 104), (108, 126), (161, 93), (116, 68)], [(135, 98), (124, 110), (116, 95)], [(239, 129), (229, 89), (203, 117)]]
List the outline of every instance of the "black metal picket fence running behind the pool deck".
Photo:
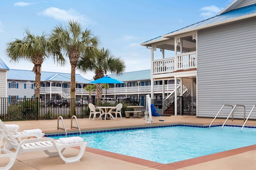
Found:
[[(179, 115), (196, 114), (195, 97), (179, 97), (178, 99)], [(71, 105), (72, 102), (74, 105)], [(152, 99), (151, 102), (155, 104), (156, 109), (159, 109), (159, 114), (174, 115), (174, 99)], [(140, 105), (144, 106), (140, 108), (141, 111), (146, 110), (146, 100), (141, 99), (131, 102), (82, 98), (0, 98), (0, 118), (2, 121), (57, 119), (59, 116), (71, 118), (72, 115), (76, 115), (77, 118), (89, 118), (88, 103), (95, 106), (116, 106), (122, 103), (122, 117), (125, 117), (125, 111), (133, 111), (132, 108), (127, 108), (128, 106)]]

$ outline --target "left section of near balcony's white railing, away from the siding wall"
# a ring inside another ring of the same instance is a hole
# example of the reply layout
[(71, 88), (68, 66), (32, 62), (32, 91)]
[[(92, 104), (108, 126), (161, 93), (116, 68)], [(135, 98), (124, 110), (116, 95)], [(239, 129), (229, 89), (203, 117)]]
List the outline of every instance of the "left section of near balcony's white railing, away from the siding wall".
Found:
[(174, 57), (153, 61), (153, 74), (170, 73), (174, 71)]

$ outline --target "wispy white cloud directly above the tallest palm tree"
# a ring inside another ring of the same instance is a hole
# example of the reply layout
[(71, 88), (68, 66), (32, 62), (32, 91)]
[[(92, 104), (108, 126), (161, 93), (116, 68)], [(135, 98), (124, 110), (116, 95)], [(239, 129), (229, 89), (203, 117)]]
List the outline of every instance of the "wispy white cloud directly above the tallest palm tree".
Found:
[(52, 17), (55, 20), (67, 21), (67, 20), (78, 20), (81, 23), (92, 23), (87, 17), (79, 12), (76, 12), (74, 9), (64, 10), (58, 9), (55, 7), (50, 7), (45, 9), (43, 12), (38, 13), (39, 15), (44, 15), (46, 17)]

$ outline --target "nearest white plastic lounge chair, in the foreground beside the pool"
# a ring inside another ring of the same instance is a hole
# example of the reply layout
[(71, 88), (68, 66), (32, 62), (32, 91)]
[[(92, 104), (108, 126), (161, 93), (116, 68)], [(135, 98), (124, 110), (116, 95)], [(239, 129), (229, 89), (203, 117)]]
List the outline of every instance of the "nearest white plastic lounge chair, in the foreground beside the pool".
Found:
[[(52, 156), (60, 156), (60, 158), (65, 161), (65, 164), (80, 161), (80, 158), (83, 156), (86, 146), (88, 145), (87, 142), (75, 142), (75, 143), (68, 143), (64, 144), (60, 140), (54, 140), (53, 138), (30, 138), (25, 139), (19, 142), (15, 135), (11, 133), (10, 130), (0, 121), (0, 129), (2, 130), (3, 140), (9, 143), (9, 148), (3, 147), (0, 149), (0, 152), (4, 154), (0, 154), (0, 158), (8, 157), (10, 159), (9, 163), (5, 167), (0, 167), (0, 170), (9, 170), (13, 164), (17, 156), (20, 153), (26, 152), (34, 152), (43, 150), (49, 157)], [(72, 138), (72, 137), (70, 137)], [(78, 137), (80, 138), (80, 137)], [(74, 142), (74, 141), (72, 141)], [(63, 156), (63, 151), (67, 147), (80, 147), (80, 152), (77, 156), (65, 158)], [(14, 148), (15, 152), (11, 151), (10, 148)], [(49, 152), (48, 150), (57, 150), (56, 152)]]

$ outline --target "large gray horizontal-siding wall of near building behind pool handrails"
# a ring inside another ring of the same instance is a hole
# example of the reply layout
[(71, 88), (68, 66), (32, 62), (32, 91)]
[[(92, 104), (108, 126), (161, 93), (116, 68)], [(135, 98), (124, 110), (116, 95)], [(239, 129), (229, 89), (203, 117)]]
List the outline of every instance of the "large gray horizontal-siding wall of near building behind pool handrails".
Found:
[[(248, 115), (256, 104), (255, 30), (256, 20), (249, 20), (198, 32), (199, 117), (214, 117), (223, 104), (245, 105)], [(230, 112), (224, 109), (219, 117)], [(243, 114), (236, 109), (234, 117)]]

